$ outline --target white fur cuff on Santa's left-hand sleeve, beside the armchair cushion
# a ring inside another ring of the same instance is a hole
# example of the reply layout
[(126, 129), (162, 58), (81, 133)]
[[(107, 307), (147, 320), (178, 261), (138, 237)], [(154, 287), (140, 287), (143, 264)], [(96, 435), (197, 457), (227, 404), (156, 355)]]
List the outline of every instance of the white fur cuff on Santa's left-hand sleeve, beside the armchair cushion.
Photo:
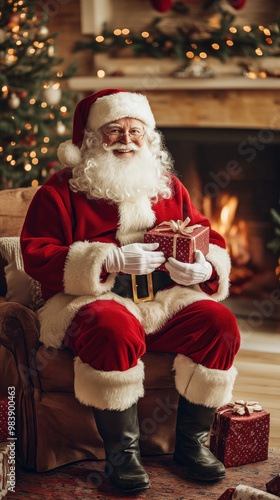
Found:
[(112, 247), (110, 243), (76, 241), (70, 246), (64, 267), (64, 290), (69, 295), (98, 296), (114, 285), (115, 274), (100, 282), (104, 260)]

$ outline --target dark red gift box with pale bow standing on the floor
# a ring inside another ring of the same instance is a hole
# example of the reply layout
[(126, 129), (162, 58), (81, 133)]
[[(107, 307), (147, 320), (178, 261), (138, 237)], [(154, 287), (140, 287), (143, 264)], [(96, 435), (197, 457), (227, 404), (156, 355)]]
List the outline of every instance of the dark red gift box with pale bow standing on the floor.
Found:
[(268, 458), (270, 414), (254, 402), (236, 401), (215, 413), (210, 450), (225, 467)]

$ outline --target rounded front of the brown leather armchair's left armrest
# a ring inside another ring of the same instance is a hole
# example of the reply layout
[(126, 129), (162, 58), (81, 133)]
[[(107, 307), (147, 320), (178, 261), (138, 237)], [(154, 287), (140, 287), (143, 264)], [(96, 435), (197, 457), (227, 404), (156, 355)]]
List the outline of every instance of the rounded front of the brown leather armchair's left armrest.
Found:
[(15, 388), (16, 452), (23, 467), (36, 469), (34, 392), (40, 390), (35, 356), (39, 341), (37, 315), (15, 303), (0, 304), (0, 391)]

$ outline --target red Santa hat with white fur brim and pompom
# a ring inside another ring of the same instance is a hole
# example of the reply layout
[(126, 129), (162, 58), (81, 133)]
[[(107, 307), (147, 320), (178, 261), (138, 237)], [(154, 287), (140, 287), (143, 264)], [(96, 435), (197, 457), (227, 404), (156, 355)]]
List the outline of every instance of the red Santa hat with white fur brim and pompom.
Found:
[(148, 99), (143, 94), (121, 89), (100, 90), (82, 99), (75, 110), (72, 141), (60, 144), (59, 161), (74, 167), (82, 158), (81, 146), (85, 130), (97, 130), (106, 123), (120, 118), (136, 118), (154, 129), (155, 119)]

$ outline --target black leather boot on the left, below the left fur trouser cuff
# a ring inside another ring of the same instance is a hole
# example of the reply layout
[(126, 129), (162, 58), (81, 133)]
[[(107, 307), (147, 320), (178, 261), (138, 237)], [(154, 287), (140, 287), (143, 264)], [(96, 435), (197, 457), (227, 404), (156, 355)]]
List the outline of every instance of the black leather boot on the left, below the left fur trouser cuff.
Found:
[(124, 411), (93, 408), (93, 413), (104, 442), (105, 472), (111, 484), (126, 493), (150, 488), (140, 459), (136, 403)]

